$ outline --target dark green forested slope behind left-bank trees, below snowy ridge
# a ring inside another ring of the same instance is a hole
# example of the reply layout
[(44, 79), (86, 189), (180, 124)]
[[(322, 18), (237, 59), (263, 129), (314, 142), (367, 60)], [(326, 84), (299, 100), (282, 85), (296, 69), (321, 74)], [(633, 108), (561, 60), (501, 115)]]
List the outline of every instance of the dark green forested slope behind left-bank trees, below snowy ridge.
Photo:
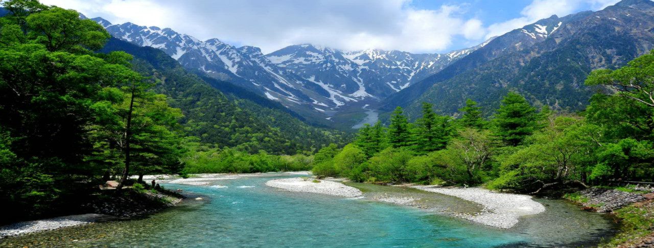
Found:
[(276, 154), (311, 151), (332, 142), (347, 142), (345, 134), (311, 127), (280, 107), (268, 106), (266, 99), (224, 95), (155, 48), (111, 39), (102, 52), (118, 50), (134, 55), (135, 70), (160, 81), (155, 91), (167, 95), (171, 106), (181, 108), (182, 124), (202, 142)]

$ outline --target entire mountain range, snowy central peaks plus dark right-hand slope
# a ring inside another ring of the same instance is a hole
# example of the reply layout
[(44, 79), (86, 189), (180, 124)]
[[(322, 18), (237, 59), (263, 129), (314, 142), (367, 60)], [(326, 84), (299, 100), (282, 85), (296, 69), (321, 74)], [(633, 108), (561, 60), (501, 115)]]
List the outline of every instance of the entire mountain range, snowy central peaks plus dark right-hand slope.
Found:
[(158, 48), (219, 84), (280, 102), (309, 123), (351, 127), (364, 111), (389, 112), (395, 106), (407, 108), (413, 119), (421, 102), (456, 116), (470, 98), (490, 115), (508, 91), (536, 106), (583, 110), (593, 93), (583, 85), (591, 70), (625, 65), (654, 48), (653, 13), (650, 0), (623, 0), (596, 12), (551, 16), (447, 54), (312, 44), (262, 54), (254, 46), (198, 40), (169, 28), (93, 20), (112, 36)]

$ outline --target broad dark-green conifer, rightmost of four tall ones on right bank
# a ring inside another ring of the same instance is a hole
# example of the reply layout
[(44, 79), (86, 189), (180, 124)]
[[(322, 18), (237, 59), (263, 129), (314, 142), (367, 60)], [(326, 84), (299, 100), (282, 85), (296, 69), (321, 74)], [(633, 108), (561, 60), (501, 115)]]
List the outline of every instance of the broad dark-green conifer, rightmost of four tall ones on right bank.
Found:
[(525, 97), (509, 92), (493, 119), (493, 134), (509, 146), (518, 146), (538, 128), (538, 114)]

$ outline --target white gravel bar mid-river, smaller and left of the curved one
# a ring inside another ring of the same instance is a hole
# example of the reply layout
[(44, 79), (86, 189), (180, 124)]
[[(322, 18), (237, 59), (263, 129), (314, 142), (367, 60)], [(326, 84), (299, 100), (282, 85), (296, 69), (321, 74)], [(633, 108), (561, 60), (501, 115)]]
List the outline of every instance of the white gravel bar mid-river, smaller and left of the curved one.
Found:
[(356, 197), (362, 195), (360, 190), (343, 185), (343, 183), (326, 180), (314, 182), (313, 179), (307, 178), (274, 179), (267, 181), (266, 186), (283, 189), (285, 191), (330, 194), (343, 197)]

